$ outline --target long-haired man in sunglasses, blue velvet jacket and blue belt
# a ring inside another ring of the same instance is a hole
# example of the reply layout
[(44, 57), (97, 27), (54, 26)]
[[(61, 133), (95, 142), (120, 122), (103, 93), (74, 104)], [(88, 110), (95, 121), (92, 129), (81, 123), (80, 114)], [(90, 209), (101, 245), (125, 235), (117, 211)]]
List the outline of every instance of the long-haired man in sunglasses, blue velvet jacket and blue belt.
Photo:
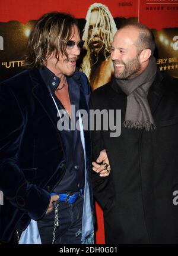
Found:
[[(90, 131), (81, 122), (72, 129), (72, 105), (88, 111), (90, 95), (76, 68), (81, 48), (72, 15), (44, 14), (28, 40), (27, 70), (1, 83), (2, 242), (14, 233), (19, 243), (94, 242)], [(62, 116), (68, 129), (59, 129)]]

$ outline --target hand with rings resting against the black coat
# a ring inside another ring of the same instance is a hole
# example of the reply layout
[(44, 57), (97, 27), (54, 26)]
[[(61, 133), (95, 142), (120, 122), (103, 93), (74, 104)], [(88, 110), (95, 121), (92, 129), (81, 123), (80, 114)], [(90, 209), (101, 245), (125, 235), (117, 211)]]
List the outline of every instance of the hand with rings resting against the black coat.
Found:
[[(101, 163), (102, 164), (97, 164)], [(101, 150), (96, 162), (93, 162), (93, 170), (100, 174), (100, 177), (107, 177), (110, 174), (110, 164), (106, 154), (106, 149)]]

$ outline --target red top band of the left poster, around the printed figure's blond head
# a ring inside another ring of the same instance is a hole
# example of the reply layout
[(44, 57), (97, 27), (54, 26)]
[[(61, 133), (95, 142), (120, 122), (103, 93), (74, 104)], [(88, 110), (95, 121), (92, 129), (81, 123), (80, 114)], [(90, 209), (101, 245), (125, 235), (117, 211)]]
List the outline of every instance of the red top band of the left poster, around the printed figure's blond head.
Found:
[(116, 0), (4, 0), (0, 2), (0, 10), (3, 10), (0, 22), (18, 20), (22, 23), (26, 23), (28, 20), (37, 20), (40, 15), (49, 11), (63, 11), (74, 14), (76, 18), (85, 18), (88, 7), (94, 2), (100, 2), (101, 4), (107, 5), (113, 17), (138, 17), (137, 0), (130, 1), (130, 6), (122, 5), (122, 2), (125, 1)]

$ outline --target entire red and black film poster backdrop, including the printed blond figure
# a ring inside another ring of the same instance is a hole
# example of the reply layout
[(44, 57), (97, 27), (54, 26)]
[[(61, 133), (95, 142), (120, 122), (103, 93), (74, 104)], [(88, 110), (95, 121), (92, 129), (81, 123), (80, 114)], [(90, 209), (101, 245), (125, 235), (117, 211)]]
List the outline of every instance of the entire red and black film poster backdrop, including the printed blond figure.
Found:
[[(144, 23), (150, 27), (157, 45), (157, 67), (178, 77), (177, 0), (4, 0), (0, 10), (0, 82), (23, 70), (31, 29), (40, 15), (49, 11), (77, 17), (85, 41), (77, 66), (87, 74), (92, 90), (109, 82), (113, 75), (110, 46), (122, 24)], [(98, 205), (96, 215), (96, 242), (104, 243), (103, 217)]]

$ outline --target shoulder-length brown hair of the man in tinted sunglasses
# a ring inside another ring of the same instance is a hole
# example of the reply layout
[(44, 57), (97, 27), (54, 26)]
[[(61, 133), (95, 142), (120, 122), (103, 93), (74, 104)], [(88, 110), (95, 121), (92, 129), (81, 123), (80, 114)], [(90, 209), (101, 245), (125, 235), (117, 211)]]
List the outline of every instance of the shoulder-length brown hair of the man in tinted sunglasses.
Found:
[(68, 57), (65, 42), (71, 36), (74, 24), (77, 25), (77, 20), (70, 14), (53, 12), (40, 17), (28, 39), (26, 67), (45, 66), (52, 52), (57, 60), (59, 53)]

